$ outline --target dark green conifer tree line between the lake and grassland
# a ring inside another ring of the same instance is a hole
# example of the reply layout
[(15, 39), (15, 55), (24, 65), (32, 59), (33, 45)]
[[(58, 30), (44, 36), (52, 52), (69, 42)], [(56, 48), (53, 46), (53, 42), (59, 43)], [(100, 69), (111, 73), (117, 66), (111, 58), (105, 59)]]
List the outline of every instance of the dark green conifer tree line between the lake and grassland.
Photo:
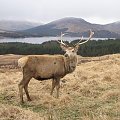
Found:
[[(67, 42), (70, 46), (74, 46), (78, 40)], [(120, 39), (112, 40), (92, 40), (79, 47), (78, 55), (85, 57), (102, 56), (107, 54), (120, 53)], [(0, 43), (0, 54), (64, 54), (56, 41), (48, 41), (42, 44), (29, 43)]]

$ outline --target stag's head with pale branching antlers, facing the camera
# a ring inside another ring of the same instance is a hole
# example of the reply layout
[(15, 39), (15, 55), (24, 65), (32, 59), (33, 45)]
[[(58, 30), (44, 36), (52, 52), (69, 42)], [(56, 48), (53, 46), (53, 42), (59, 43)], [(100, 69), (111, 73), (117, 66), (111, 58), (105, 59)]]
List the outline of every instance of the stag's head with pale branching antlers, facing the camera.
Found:
[(60, 44), (60, 47), (62, 48), (62, 50), (65, 51), (64, 56), (65, 56), (65, 57), (70, 57), (70, 58), (76, 56), (79, 46), (82, 45), (82, 44), (85, 44), (86, 42), (88, 42), (88, 41), (92, 38), (93, 34), (94, 34), (94, 32), (92, 32), (92, 31), (90, 30), (90, 36), (89, 36), (89, 38), (88, 38), (87, 40), (85, 40), (85, 41), (82, 42), (82, 40), (83, 40), (83, 37), (82, 37), (82, 38), (80, 39), (80, 41), (79, 41), (77, 44), (75, 44), (74, 47), (69, 47), (69, 46), (68, 46), (67, 44), (65, 44), (65, 43), (63, 42), (63, 40), (62, 40), (62, 37), (63, 37), (65, 34), (62, 34), (62, 33), (61, 33), (61, 39), (60, 39), (60, 41), (58, 41), (58, 43)]

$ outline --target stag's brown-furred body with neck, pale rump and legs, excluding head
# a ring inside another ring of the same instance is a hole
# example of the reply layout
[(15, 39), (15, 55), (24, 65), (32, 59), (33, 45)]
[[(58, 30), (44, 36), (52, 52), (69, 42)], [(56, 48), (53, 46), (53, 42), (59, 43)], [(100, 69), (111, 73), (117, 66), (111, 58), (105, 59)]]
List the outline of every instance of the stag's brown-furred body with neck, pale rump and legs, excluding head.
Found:
[(23, 79), (19, 84), (21, 102), (23, 102), (23, 88), (28, 100), (31, 100), (27, 90), (31, 78), (37, 80), (53, 79), (51, 95), (56, 87), (58, 98), (60, 78), (75, 70), (77, 63), (76, 57), (69, 58), (63, 55), (29, 55), (20, 58), (18, 65), (23, 68)]

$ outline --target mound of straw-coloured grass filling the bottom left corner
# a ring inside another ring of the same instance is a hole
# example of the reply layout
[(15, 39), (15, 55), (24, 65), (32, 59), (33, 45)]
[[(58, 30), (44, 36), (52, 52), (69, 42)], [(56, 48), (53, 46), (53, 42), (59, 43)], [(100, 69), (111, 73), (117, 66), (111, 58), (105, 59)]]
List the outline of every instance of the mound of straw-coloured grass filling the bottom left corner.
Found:
[(39, 114), (0, 103), (0, 120), (44, 120)]

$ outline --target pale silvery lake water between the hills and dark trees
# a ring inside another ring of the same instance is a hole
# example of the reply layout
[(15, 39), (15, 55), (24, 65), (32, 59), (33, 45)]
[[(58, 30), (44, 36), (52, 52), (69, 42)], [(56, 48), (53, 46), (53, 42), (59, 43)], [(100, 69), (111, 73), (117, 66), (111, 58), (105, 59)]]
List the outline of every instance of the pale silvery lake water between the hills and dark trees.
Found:
[[(32, 37), (32, 38), (4, 38), (0, 39), (0, 43), (3, 42), (23, 42), (23, 43), (32, 43), (32, 44), (41, 44), (50, 40), (58, 40), (57, 37)], [(65, 41), (73, 41), (80, 39), (79, 37), (64, 37)], [(105, 40), (107, 38), (92, 38), (93, 40)]]

